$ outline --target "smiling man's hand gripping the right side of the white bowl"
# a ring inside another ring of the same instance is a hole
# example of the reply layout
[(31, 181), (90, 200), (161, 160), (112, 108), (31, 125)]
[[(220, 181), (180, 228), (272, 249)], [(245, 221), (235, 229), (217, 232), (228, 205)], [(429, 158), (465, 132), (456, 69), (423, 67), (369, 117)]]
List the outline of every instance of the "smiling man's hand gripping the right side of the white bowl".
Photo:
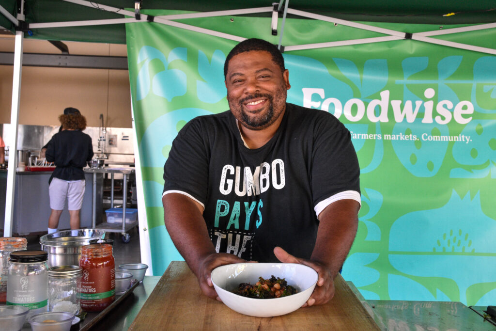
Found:
[(328, 266), (319, 262), (296, 258), (280, 247), (274, 248), (274, 254), (282, 263), (298, 263), (301, 265), (307, 265), (317, 271), (317, 286), (315, 286), (310, 298), (302, 307), (306, 307), (307, 305), (323, 305), (332, 299), (334, 296), (334, 279)]

